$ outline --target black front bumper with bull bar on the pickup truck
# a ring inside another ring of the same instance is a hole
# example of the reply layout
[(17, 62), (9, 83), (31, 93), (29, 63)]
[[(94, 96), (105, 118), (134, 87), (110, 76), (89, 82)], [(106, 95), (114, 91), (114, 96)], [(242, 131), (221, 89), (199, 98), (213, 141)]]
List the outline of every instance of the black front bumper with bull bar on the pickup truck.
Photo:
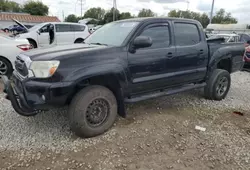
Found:
[(16, 71), (10, 79), (3, 76), (2, 81), (6, 99), (22, 116), (34, 116), (40, 111), (67, 105), (75, 89), (72, 82), (20, 78)]

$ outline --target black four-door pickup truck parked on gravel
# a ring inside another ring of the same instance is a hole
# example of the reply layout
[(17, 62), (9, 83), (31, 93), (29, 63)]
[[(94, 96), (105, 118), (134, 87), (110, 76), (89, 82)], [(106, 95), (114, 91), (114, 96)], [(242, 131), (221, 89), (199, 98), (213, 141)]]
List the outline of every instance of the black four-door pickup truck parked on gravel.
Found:
[(242, 43), (207, 41), (194, 20), (122, 20), (83, 44), (20, 54), (12, 77), (3, 77), (4, 91), (23, 116), (69, 105), (71, 129), (92, 137), (107, 131), (117, 114), (126, 116), (124, 103), (196, 88), (208, 99), (224, 99), (244, 50)]

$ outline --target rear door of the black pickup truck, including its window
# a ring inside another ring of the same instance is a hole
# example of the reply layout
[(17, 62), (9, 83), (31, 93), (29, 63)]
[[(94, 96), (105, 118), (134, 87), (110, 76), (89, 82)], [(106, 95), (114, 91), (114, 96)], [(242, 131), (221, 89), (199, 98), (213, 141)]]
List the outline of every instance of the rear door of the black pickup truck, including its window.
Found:
[(175, 84), (203, 80), (207, 72), (208, 46), (202, 26), (190, 22), (173, 24), (177, 56)]

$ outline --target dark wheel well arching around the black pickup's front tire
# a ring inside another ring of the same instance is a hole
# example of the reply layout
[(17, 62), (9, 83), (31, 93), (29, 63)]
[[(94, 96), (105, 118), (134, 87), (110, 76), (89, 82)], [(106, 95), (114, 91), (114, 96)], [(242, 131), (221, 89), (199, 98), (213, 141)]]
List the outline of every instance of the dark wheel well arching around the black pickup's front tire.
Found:
[(70, 97), (68, 102), (70, 102), (73, 96), (82, 90), (83, 88), (91, 85), (101, 85), (108, 88), (116, 97), (118, 104), (118, 114), (122, 117), (126, 117), (125, 106), (124, 106), (124, 97), (119, 81), (114, 75), (105, 75), (105, 76), (96, 76), (89, 79), (83, 80), (76, 85), (74, 94)]

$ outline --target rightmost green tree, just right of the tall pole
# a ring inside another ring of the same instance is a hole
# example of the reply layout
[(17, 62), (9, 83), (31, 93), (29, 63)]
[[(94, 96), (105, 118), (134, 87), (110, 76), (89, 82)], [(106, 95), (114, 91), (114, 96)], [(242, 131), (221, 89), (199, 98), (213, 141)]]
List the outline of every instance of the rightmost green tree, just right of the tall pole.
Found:
[(226, 13), (224, 9), (216, 12), (216, 15), (212, 19), (212, 23), (216, 24), (236, 24), (237, 22), (237, 19), (232, 17), (231, 13)]

